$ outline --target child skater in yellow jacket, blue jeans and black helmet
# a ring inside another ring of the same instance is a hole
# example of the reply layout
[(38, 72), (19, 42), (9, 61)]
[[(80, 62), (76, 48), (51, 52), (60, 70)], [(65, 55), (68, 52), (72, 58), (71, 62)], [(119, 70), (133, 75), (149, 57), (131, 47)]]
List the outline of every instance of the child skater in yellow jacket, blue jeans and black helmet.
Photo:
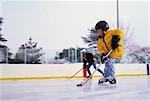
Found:
[[(105, 63), (104, 78), (99, 80), (99, 83), (110, 82), (115, 84), (115, 68), (114, 64), (123, 56), (123, 35), (124, 32), (120, 29), (109, 30), (109, 25), (106, 21), (99, 21), (95, 25), (95, 31), (99, 34), (98, 50), (101, 55), (102, 63)], [(110, 51), (112, 51), (110, 53)], [(110, 53), (108, 57), (106, 55)]]

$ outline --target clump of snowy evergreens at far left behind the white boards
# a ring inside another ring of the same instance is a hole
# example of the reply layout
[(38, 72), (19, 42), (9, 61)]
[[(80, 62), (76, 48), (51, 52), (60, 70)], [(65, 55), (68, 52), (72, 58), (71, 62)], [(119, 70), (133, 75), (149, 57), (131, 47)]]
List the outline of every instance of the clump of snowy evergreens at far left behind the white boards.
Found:
[(0, 63), (10, 63), (10, 64), (41, 64), (43, 63), (42, 56), (44, 52), (42, 48), (37, 47), (37, 42), (33, 42), (30, 37), (29, 40), (20, 45), (15, 56), (12, 58), (13, 53), (10, 52), (8, 46), (4, 43), (7, 40), (3, 37), (1, 33), (3, 24), (3, 18), (0, 17)]

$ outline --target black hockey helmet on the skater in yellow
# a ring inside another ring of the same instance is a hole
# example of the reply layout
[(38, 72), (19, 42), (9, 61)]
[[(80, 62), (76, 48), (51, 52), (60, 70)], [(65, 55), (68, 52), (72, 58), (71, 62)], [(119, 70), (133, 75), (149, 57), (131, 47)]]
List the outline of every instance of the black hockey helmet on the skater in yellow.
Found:
[(95, 30), (97, 29), (102, 29), (102, 31), (107, 31), (109, 29), (109, 25), (106, 21), (102, 20), (95, 25)]

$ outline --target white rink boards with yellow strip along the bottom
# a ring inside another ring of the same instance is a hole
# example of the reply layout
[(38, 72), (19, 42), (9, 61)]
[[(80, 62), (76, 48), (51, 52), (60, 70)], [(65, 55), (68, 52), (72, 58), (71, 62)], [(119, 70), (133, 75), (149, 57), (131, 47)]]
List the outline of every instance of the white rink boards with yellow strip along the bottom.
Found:
[[(56, 79), (72, 76), (82, 68), (82, 63), (78, 64), (1, 64), (0, 80), (9, 79)], [(98, 66), (99, 64), (97, 64)], [(102, 71), (104, 65), (99, 67)], [(146, 64), (116, 64), (117, 76), (141, 76), (147, 75)], [(93, 67), (90, 68), (94, 71)], [(82, 78), (83, 71), (75, 77)], [(101, 76), (98, 72), (95, 77)]]

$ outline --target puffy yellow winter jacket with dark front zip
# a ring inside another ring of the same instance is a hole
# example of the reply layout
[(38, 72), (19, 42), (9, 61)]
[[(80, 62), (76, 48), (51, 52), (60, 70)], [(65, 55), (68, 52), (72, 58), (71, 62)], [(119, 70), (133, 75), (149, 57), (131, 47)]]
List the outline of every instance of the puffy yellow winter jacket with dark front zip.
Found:
[(118, 42), (118, 48), (116, 48), (111, 54), (110, 57), (120, 59), (123, 56), (124, 46), (123, 46), (123, 36), (124, 32), (120, 29), (114, 29), (114, 30), (108, 30), (104, 32), (105, 36), (104, 38), (99, 38), (98, 40), (98, 51), (100, 54), (108, 53), (109, 50), (111, 50), (111, 39), (113, 35), (118, 35), (120, 38), (120, 41)]

